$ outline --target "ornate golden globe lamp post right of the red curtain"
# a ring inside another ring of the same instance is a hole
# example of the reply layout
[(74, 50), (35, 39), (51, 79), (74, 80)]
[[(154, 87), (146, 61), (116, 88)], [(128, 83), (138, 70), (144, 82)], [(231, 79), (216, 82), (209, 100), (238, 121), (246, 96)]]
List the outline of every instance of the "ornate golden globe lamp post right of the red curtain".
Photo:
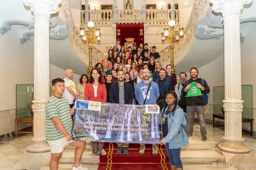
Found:
[(169, 40), (170, 41), (170, 49), (171, 49), (171, 66), (172, 66), (172, 73), (175, 73), (176, 67), (174, 66), (174, 43), (180, 41), (180, 38), (184, 35), (184, 27), (179, 28), (179, 31), (174, 30), (175, 21), (170, 20), (168, 22), (169, 27), (164, 28), (164, 32), (161, 33), (162, 41)]

